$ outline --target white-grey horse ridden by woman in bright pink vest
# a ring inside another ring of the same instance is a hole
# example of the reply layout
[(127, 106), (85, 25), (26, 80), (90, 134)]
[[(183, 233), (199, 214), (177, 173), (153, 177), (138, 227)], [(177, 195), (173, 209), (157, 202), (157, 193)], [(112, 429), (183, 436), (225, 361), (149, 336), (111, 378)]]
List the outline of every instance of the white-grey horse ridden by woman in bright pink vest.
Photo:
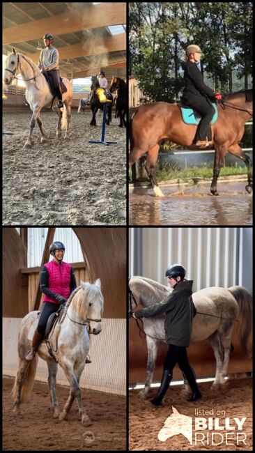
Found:
[[(102, 330), (102, 309), (103, 297), (100, 279), (97, 279), (94, 284), (81, 282), (81, 286), (78, 286), (70, 295), (59, 323), (49, 335), (49, 344), (52, 345), (55, 359), (49, 354), (45, 341), (42, 341), (38, 348), (38, 355), (46, 360), (49, 369), (48, 382), (54, 418), (59, 417), (59, 420), (67, 420), (72, 402), (76, 398), (79, 414), (82, 415), (82, 424), (84, 426), (92, 424), (82, 405), (79, 379), (84, 370), (90, 344), (88, 333), (98, 335)], [(29, 329), (37, 317), (37, 311), (30, 312), (23, 318), (20, 326), (18, 339), (20, 363), (12, 391), (15, 401), (14, 413), (20, 413), (20, 404), (28, 402), (31, 397), (38, 358), (36, 355), (31, 362), (28, 362), (25, 355), (26, 351), (31, 349), (31, 340), (28, 338)], [(89, 326), (88, 331), (87, 325)], [(62, 413), (60, 413), (59, 403), (56, 400), (58, 363), (63, 368), (71, 387)]]

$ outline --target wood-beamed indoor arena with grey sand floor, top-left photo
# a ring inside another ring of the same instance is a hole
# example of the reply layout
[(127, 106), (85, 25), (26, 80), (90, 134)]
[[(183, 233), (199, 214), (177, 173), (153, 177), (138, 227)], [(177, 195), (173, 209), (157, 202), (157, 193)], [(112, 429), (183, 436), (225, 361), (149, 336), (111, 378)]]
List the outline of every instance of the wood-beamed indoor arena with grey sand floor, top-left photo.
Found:
[[(119, 127), (116, 117), (116, 92), (103, 139), (101, 110), (96, 126), (90, 125), (90, 83), (77, 85), (100, 71), (108, 91), (113, 77), (126, 79), (125, 23), (125, 3), (3, 3), (3, 54), (14, 48), (37, 65), (42, 36), (52, 33), (60, 76), (72, 83), (73, 91), (69, 139), (64, 139), (65, 130), (56, 138), (57, 108), (43, 107), (47, 141), (40, 142), (36, 123), (28, 148), (32, 112), (26, 88), (17, 79), (3, 84), (4, 225), (126, 224), (126, 128)], [(24, 79), (20, 72), (17, 78)], [(88, 105), (78, 112), (82, 99)]]

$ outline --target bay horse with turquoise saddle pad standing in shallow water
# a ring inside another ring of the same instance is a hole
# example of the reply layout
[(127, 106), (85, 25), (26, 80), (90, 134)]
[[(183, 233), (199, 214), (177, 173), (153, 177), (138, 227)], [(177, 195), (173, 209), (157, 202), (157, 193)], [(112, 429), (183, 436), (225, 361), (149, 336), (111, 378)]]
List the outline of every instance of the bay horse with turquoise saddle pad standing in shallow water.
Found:
[[(229, 102), (231, 101), (231, 102)], [(213, 178), (210, 186), (212, 195), (218, 195), (217, 179), (227, 152), (245, 162), (248, 184), (245, 189), (252, 192), (252, 162), (239, 142), (245, 132), (245, 123), (252, 117), (252, 90), (241, 90), (226, 96), (218, 105), (217, 122), (211, 125), (212, 147), (215, 149)], [(160, 144), (165, 139), (193, 149), (196, 125), (183, 122), (180, 107), (167, 102), (155, 102), (137, 107), (130, 117), (130, 155), (132, 165), (146, 154), (146, 171), (156, 196), (163, 196), (155, 178), (155, 167)]]

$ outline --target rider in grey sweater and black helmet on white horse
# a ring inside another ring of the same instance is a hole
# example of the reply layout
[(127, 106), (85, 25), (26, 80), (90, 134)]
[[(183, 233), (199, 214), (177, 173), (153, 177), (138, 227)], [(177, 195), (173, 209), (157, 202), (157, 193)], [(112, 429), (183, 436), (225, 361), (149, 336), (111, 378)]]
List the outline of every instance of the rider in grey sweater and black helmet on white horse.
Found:
[(61, 89), (59, 87), (59, 52), (52, 45), (54, 38), (51, 33), (46, 33), (42, 39), (47, 47), (40, 52), (38, 68), (42, 69), (42, 71), (47, 71), (47, 75), (52, 81), (56, 98), (59, 100), (58, 107), (61, 109), (61, 107), (63, 107), (63, 102)]

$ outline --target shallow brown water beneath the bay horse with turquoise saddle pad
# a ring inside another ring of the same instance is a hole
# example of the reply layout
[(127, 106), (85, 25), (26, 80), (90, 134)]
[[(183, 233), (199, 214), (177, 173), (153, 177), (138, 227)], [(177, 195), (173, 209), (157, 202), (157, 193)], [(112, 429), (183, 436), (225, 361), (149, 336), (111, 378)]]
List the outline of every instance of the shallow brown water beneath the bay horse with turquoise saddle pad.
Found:
[(164, 197), (150, 187), (134, 187), (129, 195), (129, 224), (139, 225), (252, 225), (252, 195), (246, 181), (218, 183), (219, 197), (210, 182), (178, 187), (160, 185)]

